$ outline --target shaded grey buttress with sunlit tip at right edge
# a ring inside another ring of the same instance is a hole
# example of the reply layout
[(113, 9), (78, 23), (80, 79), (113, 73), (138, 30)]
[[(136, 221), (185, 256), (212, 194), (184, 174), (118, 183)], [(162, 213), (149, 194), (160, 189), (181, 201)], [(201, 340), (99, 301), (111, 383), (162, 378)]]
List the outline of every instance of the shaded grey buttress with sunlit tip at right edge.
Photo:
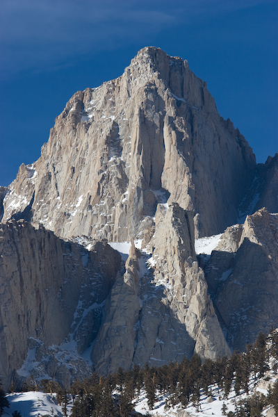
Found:
[(278, 326), (278, 215), (262, 208), (228, 228), (204, 271), (229, 345), (245, 350)]

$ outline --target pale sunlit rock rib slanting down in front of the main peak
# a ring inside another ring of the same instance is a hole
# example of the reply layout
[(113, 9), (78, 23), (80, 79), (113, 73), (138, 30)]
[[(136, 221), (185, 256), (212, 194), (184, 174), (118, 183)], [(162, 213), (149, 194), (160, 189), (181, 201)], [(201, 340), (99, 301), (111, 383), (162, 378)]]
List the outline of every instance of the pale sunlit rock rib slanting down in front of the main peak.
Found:
[[(202, 359), (216, 359), (230, 352), (207, 293), (204, 272), (197, 263), (193, 224), (193, 213), (177, 204), (170, 206), (161, 219), (158, 217), (150, 242), (154, 247), (154, 283), (167, 288), (170, 309), (193, 339), (194, 353)], [(191, 356), (190, 343), (186, 344), (186, 354)]]

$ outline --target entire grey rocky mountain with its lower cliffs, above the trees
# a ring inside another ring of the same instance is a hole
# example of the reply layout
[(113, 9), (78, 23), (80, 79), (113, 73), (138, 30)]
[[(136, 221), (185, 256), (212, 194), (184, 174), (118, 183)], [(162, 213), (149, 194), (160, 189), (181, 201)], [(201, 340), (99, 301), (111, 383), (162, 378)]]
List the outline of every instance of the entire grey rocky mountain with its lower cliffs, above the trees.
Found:
[(277, 327), (277, 172), (156, 47), (76, 92), (0, 188), (6, 389), (216, 359)]

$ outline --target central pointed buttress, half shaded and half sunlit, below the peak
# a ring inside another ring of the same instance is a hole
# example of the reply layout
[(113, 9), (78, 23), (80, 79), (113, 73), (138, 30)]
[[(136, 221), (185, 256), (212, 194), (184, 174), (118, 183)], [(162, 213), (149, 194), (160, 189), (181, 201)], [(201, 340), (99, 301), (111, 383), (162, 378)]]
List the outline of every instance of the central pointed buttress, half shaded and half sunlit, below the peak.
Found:
[(202, 359), (230, 354), (197, 264), (193, 213), (173, 204), (157, 217), (147, 247), (152, 256), (131, 247), (126, 272), (106, 302), (92, 350), (99, 373), (161, 366), (193, 353)]

